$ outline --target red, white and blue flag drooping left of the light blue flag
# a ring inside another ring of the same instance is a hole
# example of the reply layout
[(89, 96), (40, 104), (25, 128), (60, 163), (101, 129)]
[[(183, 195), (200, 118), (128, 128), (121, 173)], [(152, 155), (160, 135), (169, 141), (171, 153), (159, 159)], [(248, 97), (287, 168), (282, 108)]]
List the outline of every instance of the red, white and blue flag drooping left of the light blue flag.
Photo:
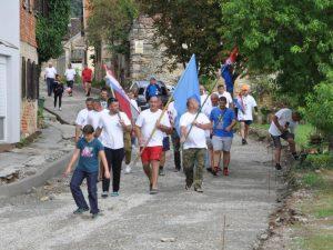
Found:
[(109, 86), (113, 92), (114, 92), (114, 98), (118, 99), (119, 101), (119, 108), (122, 112), (124, 112), (130, 120), (135, 120), (140, 113), (139, 110), (134, 106), (132, 106), (130, 98), (119, 83), (119, 81), (114, 78), (113, 72), (108, 69), (107, 66), (104, 66), (104, 69), (107, 71), (107, 77), (105, 77), (105, 82), (107, 86)]

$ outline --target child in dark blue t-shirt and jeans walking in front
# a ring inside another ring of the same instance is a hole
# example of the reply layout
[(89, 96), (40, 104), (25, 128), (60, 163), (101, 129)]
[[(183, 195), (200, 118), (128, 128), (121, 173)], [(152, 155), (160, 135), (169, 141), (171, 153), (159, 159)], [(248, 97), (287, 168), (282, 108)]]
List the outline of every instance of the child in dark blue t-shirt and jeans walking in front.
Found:
[(84, 137), (78, 141), (73, 157), (69, 162), (63, 176), (67, 177), (71, 172), (72, 166), (79, 159), (79, 163), (73, 172), (70, 183), (72, 196), (78, 206), (78, 209), (73, 213), (81, 214), (89, 210), (89, 207), (80, 188), (83, 179), (87, 179), (90, 213), (92, 213), (92, 218), (94, 219), (98, 217), (100, 211), (98, 208), (97, 194), (99, 157), (103, 162), (104, 177), (107, 179), (110, 179), (110, 172), (104, 153), (104, 148), (102, 143), (97, 138), (94, 138), (93, 127), (90, 124), (84, 126), (83, 136)]

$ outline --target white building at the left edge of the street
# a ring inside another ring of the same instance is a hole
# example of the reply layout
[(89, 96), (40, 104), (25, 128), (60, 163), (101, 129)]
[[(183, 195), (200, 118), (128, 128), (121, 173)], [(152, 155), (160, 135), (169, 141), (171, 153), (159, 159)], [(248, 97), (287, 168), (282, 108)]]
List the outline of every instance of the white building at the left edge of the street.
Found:
[(0, 2), (0, 144), (6, 144), (20, 141), (19, 0)]

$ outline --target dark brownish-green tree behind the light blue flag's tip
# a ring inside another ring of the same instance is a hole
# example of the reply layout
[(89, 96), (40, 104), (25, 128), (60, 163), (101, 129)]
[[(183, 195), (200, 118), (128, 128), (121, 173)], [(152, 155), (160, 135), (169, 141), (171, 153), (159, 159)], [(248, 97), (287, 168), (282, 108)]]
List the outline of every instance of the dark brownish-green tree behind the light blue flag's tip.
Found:
[(140, 7), (154, 20), (157, 44), (164, 44), (164, 54), (185, 64), (195, 53), (200, 74), (213, 73), (221, 62), (222, 13), (219, 0), (141, 0)]

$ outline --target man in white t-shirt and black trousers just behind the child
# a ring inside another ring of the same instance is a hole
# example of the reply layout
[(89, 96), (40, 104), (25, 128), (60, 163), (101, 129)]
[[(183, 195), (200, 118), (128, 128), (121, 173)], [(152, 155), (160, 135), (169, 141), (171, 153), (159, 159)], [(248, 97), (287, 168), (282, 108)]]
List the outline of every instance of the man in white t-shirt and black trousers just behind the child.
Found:
[[(99, 128), (95, 136), (103, 132), (102, 143), (109, 168), (112, 168), (112, 193), (111, 197), (119, 196), (121, 163), (124, 158), (123, 133), (132, 130), (130, 119), (124, 112), (119, 111), (119, 102), (115, 98), (108, 100), (109, 112), (103, 112), (100, 117)], [(102, 198), (109, 196), (110, 179), (102, 180)]]

